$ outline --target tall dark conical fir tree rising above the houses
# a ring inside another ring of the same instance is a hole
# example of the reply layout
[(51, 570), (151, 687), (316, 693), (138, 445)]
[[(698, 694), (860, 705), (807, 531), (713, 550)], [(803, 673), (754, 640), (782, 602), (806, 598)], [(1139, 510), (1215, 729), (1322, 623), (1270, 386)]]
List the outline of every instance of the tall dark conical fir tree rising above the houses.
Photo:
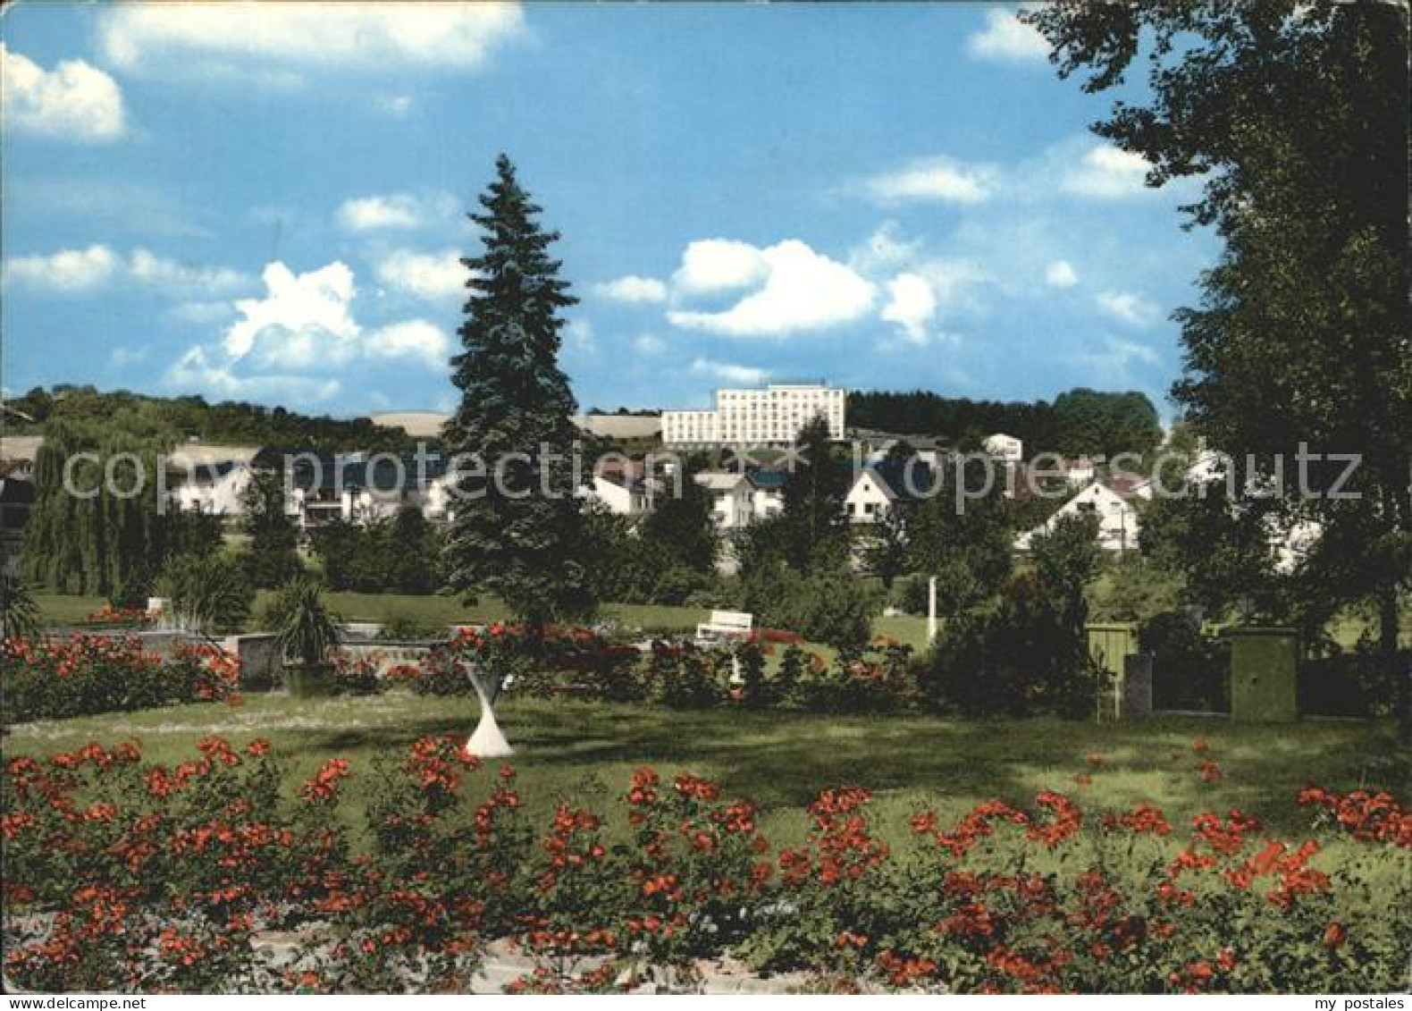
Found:
[(448, 580), (467, 602), (500, 596), (531, 626), (583, 617), (593, 596), (573, 486), (576, 404), (558, 364), (559, 312), (578, 299), (548, 251), (559, 233), (538, 225), (541, 208), (505, 155), (480, 206), (470, 219), (484, 232), (484, 251), (462, 260), (472, 295), (465, 352), (452, 359), (462, 400), (446, 422), (450, 450), (463, 460)]

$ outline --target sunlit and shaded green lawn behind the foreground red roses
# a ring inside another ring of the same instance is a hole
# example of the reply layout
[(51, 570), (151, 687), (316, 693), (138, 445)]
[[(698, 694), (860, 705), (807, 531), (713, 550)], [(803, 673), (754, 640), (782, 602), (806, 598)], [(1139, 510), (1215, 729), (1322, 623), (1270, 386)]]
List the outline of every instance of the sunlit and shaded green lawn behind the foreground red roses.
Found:
[[(288, 764), (291, 795), (326, 760), (350, 758), (349, 798), (359, 805), (377, 753), (402, 750), (424, 734), (469, 734), (477, 712), (470, 698), (405, 690), (305, 700), (247, 695), (239, 707), (189, 705), (23, 724), (7, 736), (4, 751), (44, 755), (90, 740), (136, 738), (148, 758), (175, 762), (191, 757), (206, 734), (233, 743), (267, 737)], [(907, 846), (908, 818), (922, 808), (955, 819), (990, 798), (1028, 802), (1049, 788), (1072, 794), (1084, 808), (1158, 803), (1183, 836), (1182, 826), (1197, 812), (1238, 808), (1292, 837), (1309, 827), (1309, 812), (1295, 805), (1295, 796), (1310, 782), (1340, 791), (1384, 786), (1394, 794), (1405, 792), (1408, 782), (1408, 754), (1398, 750), (1389, 723), (963, 722), (925, 714), (674, 712), (513, 696), (503, 699), (497, 714), (518, 750), (513, 764), (532, 812), (544, 815), (559, 801), (607, 808), (634, 770), (651, 765), (664, 775), (705, 775), (729, 795), (753, 798), (777, 843), (799, 842), (802, 809), (820, 789), (840, 784), (873, 789), (881, 834)], [(1209, 741), (1209, 750), (1196, 753), (1196, 738)], [(1089, 755), (1101, 764), (1090, 765)], [(1202, 779), (1196, 764), (1203, 757), (1219, 764), (1217, 782)], [(1090, 775), (1091, 784), (1080, 785), (1077, 774)]]

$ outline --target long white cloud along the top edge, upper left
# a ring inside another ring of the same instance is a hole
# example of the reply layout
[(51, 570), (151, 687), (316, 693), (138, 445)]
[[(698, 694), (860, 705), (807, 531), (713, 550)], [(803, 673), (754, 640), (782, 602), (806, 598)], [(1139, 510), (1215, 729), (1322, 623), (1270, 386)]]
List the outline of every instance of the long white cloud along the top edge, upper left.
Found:
[(210, 69), (225, 61), (398, 71), (474, 69), (524, 32), (518, 4), (121, 4), (103, 18), (103, 55), (126, 71)]

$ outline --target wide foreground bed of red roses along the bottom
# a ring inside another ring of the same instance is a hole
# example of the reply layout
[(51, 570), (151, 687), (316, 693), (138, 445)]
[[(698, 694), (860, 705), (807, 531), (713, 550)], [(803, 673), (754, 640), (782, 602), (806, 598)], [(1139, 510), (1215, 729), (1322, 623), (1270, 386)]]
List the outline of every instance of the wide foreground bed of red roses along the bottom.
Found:
[[(371, 784), (360, 822), (339, 812), (350, 777)], [(443, 738), (281, 782), (258, 740), (208, 738), (175, 767), (136, 744), (10, 758), (8, 979), (450, 991), (511, 939), (535, 966), (527, 991), (689, 988), (729, 952), (908, 990), (1368, 993), (1404, 983), (1412, 942), (1412, 815), (1378, 792), (1310, 788), (1298, 842), (1238, 810), (1179, 827), (1043, 792), (953, 825), (918, 810), (897, 853), (866, 789), (822, 792), (805, 842), (777, 850), (748, 801), (650, 768), (541, 822), (514, 770)], [(271, 932), (284, 953), (254, 943)]]

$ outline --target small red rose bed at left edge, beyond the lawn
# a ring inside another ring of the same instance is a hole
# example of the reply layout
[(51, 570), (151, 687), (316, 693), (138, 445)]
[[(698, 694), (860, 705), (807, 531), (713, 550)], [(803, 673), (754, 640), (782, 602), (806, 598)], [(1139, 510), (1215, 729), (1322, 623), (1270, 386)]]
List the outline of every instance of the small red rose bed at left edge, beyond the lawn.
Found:
[(136, 637), (0, 642), (6, 723), (150, 709), (234, 696), (240, 666), (208, 644), (178, 647), (162, 661)]

